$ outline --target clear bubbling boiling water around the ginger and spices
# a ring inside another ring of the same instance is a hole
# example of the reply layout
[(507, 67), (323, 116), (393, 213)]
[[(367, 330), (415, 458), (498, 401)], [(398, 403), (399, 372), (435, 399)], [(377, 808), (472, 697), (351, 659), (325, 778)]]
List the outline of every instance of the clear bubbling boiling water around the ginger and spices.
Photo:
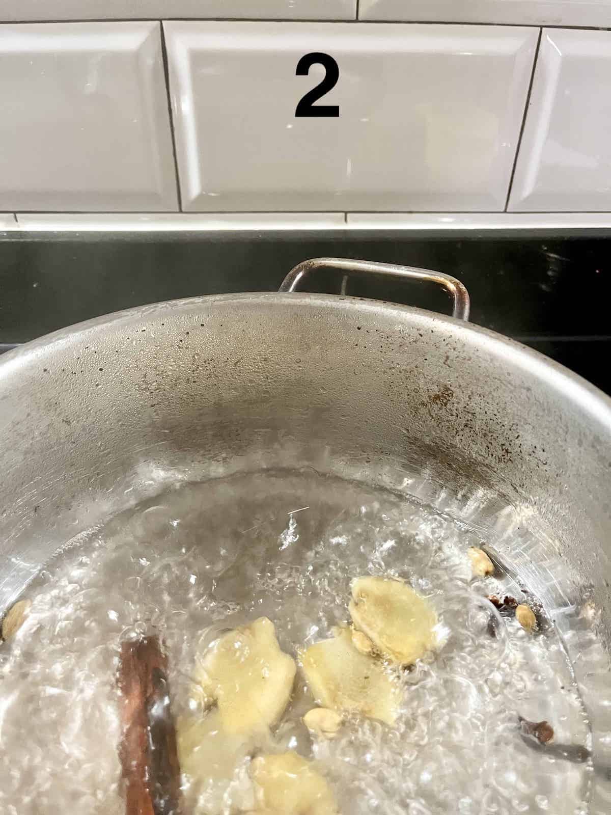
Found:
[[(466, 550), (481, 543), (405, 497), (284, 473), (182, 485), (81, 536), (28, 588), (29, 618), (0, 647), (0, 812), (124, 812), (123, 638), (160, 633), (180, 714), (195, 654), (219, 632), (266, 615), (295, 655), (349, 619), (352, 579), (396, 575), (447, 635), (403, 673), (397, 725), (353, 720), (312, 742), (298, 672), (273, 749), (318, 760), (342, 815), (587, 813), (590, 730), (562, 643), (505, 618), (490, 636), (486, 595), (522, 596), (508, 578), (473, 579)], [(547, 719), (568, 751), (528, 742), (519, 716)], [(229, 813), (231, 790), (185, 779), (184, 812)]]

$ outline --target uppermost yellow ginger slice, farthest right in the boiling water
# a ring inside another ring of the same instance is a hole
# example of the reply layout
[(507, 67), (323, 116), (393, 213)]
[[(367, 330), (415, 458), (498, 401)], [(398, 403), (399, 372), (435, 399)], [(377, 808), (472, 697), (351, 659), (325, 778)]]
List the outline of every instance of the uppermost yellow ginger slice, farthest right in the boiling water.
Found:
[(354, 580), (349, 612), (354, 626), (393, 663), (411, 665), (437, 645), (433, 606), (401, 580)]

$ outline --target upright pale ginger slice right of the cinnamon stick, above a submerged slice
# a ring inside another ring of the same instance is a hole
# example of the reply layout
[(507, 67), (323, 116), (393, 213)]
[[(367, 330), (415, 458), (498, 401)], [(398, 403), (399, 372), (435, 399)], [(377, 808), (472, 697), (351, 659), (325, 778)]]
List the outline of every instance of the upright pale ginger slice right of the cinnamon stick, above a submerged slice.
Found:
[(196, 681), (209, 702), (218, 704), (226, 734), (252, 735), (279, 721), (295, 672), (295, 661), (280, 650), (274, 623), (260, 617), (213, 643)]

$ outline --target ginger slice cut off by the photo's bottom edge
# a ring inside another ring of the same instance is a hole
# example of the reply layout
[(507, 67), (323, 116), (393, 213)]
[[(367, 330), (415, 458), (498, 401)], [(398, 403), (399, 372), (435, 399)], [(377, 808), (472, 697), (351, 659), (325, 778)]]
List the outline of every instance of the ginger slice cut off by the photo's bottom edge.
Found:
[(258, 756), (251, 765), (257, 815), (337, 815), (331, 787), (295, 752)]

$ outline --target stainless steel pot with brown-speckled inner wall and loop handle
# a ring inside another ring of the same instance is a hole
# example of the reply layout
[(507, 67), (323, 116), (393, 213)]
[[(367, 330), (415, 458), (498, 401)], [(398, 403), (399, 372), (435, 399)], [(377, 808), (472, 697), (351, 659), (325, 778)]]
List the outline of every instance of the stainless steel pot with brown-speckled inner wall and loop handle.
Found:
[[(294, 293), (314, 267), (437, 280), (454, 317)], [(611, 811), (611, 401), (465, 322), (458, 280), (301, 264), (279, 293), (164, 302), (0, 362), (0, 606), (75, 533), (181, 478), (313, 468), (415, 494), (486, 535), (565, 638)], [(463, 318), (463, 319), (460, 319)]]

